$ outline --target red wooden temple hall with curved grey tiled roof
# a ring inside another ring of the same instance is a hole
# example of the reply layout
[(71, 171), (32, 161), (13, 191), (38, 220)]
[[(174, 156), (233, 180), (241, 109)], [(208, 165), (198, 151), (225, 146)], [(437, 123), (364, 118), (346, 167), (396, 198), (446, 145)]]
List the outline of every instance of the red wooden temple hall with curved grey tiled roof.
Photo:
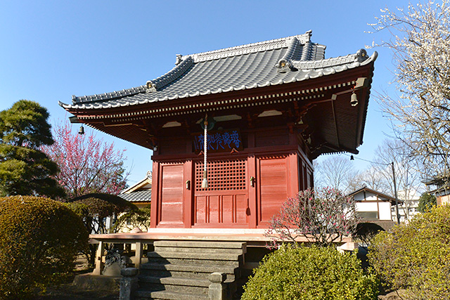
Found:
[(363, 139), (377, 54), (326, 59), (310, 38), (178, 55), (146, 84), (60, 105), (153, 150), (153, 228), (266, 228), (287, 197), (313, 185), (313, 159), (357, 153)]

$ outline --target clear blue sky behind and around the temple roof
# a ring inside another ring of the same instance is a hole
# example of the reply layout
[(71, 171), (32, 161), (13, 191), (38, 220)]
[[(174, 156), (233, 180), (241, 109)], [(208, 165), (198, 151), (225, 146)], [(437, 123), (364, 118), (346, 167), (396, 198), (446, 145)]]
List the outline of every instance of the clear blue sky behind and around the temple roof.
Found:
[[(140, 86), (174, 67), (176, 54), (191, 54), (303, 34), (324, 44), (326, 58), (356, 53), (387, 32), (368, 34), (380, 8), (408, 1), (0, 1), (0, 110), (20, 99), (69, 117), (58, 101)], [(392, 54), (378, 51), (372, 94), (394, 90)], [(78, 129), (74, 125), (74, 129)], [(390, 134), (371, 97), (358, 157)], [(151, 169), (152, 152), (97, 132), (127, 148), (129, 184)], [(355, 160), (359, 169), (365, 162)]]

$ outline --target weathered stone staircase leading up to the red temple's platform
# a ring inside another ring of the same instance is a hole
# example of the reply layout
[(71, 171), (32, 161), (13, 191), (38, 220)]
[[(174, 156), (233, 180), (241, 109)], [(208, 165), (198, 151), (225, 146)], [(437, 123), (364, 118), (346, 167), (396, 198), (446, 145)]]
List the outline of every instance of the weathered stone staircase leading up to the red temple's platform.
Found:
[(210, 274), (224, 273), (227, 297), (236, 292), (236, 280), (247, 252), (245, 242), (155, 241), (148, 263), (141, 265), (134, 299), (210, 299)]

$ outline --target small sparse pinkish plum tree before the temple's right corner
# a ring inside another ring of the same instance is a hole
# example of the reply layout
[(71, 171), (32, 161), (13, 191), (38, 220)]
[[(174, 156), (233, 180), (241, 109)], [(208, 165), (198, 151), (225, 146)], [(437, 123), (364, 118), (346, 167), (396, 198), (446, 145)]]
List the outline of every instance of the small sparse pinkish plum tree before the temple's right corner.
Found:
[(299, 237), (329, 246), (352, 234), (358, 222), (352, 197), (332, 188), (308, 189), (283, 203), (265, 234), (272, 238), (274, 246), (280, 241), (297, 244)]

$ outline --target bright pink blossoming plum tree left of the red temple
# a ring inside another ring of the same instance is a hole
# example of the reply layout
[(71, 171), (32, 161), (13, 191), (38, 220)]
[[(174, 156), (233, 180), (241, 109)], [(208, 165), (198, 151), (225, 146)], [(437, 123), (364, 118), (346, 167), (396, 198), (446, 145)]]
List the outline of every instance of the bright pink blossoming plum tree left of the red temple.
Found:
[(58, 164), (56, 179), (68, 199), (89, 193), (117, 195), (127, 186), (125, 150), (115, 150), (114, 143), (103, 143), (93, 133), (72, 133), (69, 122), (57, 124), (53, 136), (55, 143), (42, 150)]

